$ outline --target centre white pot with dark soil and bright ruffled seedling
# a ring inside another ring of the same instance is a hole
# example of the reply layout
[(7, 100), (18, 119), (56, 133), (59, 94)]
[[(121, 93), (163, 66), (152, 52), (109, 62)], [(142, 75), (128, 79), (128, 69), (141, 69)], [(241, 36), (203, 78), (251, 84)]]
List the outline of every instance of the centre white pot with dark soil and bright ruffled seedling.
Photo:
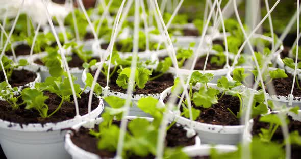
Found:
[[(116, 60), (116, 59), (115, 59)], [(117, 60), (118, 61), (118, 60)], [(116, 62), (116, 61), (115, 61)], [(113, 62), (115, 64), (115, 62)], [(122, 83), (121, 81), (129, 80), (129, 73), (131, 69), (129, 66), (122, 66), (122, 65), (111, 65), (112, 68), (110, 69), (110, 78), (109, 78), (109, 87), (107, 86), (107, 68), (103, 69), (102, 72), (99, 74), (99, 77), (97, 79), (97, 83), (99, 86), (103, 89), (103, 95), (106, 96), (116, 96), (122, 99), (127, 98), (127, 83)], [(121, 66), (121, 67), (120, 67)], [(120, 68), (119, 68), (120, 67)], [(85, 69), (82, 74), (82, 81), (86, 84), (87, 75), (89, 78), (94, 76), (96, 68), (90, 68), (90, 70)], [(173, 79), (174, 75), (171, 73), (167, 73), (167, 69), (147, 69), (144, 67), (137, 67), (136, 71), (138, 71), (140, 74), (138, 77), (141, 77), (139, 80), (138, 78), (135, 78), (135, 88), (132, 94), (132, 107), (130, 108), (129, 115), (131, 116), (141, 116), (141, 117), (149, 117), (148, 114), (144, 113), (142, 110), (140, 110), (136, 102), (144, 97), (154, 97), (156, 99), (159, 99), (160, 94), (168, 87), (173, 85)], [(91, 73), (88, 73), (88, 71)], [(120, 71), (120, 72), (119, 72)], [(145, 78), (144, 78), (145, 77)], [(143, 80), (142, 80), (143, 78)], [(137, 82), (140, 81), (138, 84)], [(102, 95), (102, 96), (103, 96)], [(108, 103), (105, 102), (105, 105), (108, 105)]]

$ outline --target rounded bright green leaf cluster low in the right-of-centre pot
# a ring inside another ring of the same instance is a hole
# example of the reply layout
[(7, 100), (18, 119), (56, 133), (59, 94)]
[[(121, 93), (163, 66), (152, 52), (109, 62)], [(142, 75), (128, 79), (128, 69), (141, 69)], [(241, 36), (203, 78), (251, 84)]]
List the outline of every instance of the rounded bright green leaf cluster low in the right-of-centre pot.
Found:
[(212, 104), (218, 103), (217, 95), (219, 91), (214, 88), (206, 89), (200, 87), (198, 92), (193, 93), (192, 101), (196, 107), (210, 108)]

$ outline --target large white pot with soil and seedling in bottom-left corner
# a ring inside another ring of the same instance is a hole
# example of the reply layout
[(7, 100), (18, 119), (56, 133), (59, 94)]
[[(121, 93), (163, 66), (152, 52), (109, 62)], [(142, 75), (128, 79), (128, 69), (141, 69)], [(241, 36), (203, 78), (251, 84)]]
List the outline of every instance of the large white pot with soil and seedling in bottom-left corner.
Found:
[[(77, 93), (81, 91), (79, 85), (74, 87)], [(71, 94), (62, 96), (59, 92), (40, 89), (36, 86), (22, 90), (16, 103), (11, 99), (0, 101), (0, 143), (7, 158), (68, 158), (63, 147), (66, 130), (98, 117), (104, 109), (101, 97), (94, 95), (93, 111), (87, 114), (89, 92), (81, 91), (81, 98), (78, 98), (80, 116), (74, 118), (77, 114)]]

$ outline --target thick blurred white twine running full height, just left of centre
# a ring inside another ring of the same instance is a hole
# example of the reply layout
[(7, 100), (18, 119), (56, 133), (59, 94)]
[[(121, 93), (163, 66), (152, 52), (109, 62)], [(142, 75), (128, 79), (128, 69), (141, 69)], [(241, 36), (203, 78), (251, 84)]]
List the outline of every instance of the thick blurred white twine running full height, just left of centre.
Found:
[(137, 59), (138, 59), (138, 43), (139, 43), (139, 8), (140, 8), (140, 1), (135, 1), (135, 20), (134, 20), (134, 43), (133, 43), (133, 58), (131, 63), (131, 73), (129, 78), (129, 84), (127, 88), (127, 99), (126, 103), (124, 104), (124, 112), (122, 114), (121, 124), (120, 124), (120, 133), (118, 138), (118, 145), (116, 151), (116, 158), (122, 158), (123, 152), (123, 144), (124, 144), (124, 137), (127, 131), (127, 123), (128, 120), (126, 117), (129, 114), (130, 104), (132, 99), (132, 92), (134, 89), (135, 83), (135, 74), (136, 74), (136, 67), (137, 67)]

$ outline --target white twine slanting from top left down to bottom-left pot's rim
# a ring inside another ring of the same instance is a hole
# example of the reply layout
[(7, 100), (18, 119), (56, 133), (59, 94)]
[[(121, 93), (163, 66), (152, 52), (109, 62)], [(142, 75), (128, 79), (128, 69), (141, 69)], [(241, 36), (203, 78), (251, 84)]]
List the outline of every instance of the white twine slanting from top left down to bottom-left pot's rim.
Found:
[(74, 105), (75, 105), (75, 108), (76, 108), (76, 116), (74, 118), (77, 118), (77, 117), (80, 117), (79, 104), (78, 104), (78, 99), (77, 99), (76, 92), (74, 90), (74, 85), (73, 85), (72, 77), (71, 77), (71, 74), (70, 74), (68, 62), (67, 62), (66, 57), (64, 55), (65, 50), (62, 48), (60, 39), (59, 39), (59, 37), (58, 37), (58, 35), (56, 33), (56, 30), (54, 28), (51, 16), (49, 15), (49, 11), (48, 11), (48, 8), (47, 8), (48, 4), (47, 4), (47, 2), (45, 0), (43, 0), (43, 4), (44, 4), (45, 10), (46, 10), (46, 16), (47, 16), (47, 19), (48, 19), (48, 23), (50, 25), (50, 28), (52, 30), (52, 33), (53, 33), (56, 41), (57, 41), (57, 44), (59, 46), (59, 52), (60, 52), (60, 55), (61, 55), (61, 58), (62, 58), (62, 61), (63, 61), (63, 65), (66, 68), (66, 71), (67, 71), (67, 74), (68, 74), (68, 78), (69, 78), (69, 82), (70, 82), (70, 87), (71, 87), (72, 94), (73, 94)]

